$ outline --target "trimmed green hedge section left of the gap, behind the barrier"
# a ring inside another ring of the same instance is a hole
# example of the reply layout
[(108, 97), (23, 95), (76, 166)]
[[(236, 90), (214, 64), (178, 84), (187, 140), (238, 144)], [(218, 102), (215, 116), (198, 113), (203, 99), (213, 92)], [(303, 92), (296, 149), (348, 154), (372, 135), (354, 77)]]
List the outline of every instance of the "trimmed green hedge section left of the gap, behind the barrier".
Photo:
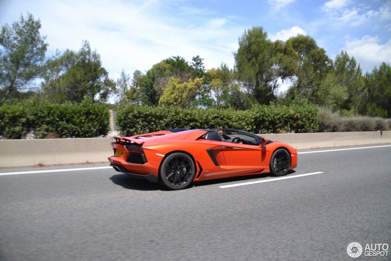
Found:
[(0, 107), (0, 135), (22, 139), (31, 131), (36, 138), (91, 138), (109, 132), (109, 111), (104, 104), (5, 104)]

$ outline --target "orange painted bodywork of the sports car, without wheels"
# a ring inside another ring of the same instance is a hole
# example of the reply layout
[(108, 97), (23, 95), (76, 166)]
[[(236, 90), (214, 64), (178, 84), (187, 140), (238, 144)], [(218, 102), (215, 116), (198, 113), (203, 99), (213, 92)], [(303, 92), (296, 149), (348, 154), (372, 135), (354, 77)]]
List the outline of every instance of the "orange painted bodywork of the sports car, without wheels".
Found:
[[(237, 144), (224, 141), (199, 139), (207, 130), (189, 130), (172, 133), (170, 131), (158, 131), (144, 135), (127, 138), (113, 137), (115, 151), (124, 151), (124, 156), (114, 155), (108, 157), (113, 164), (124, 167), (130, 173), (138, 175), (159, 175), (159, 167), (163, 158), (170, 153), (183, 152), (190, 155), (197, 169), (194, 181), (210, 180), (215, 178), (228, 178), (233, 176), (269, 173), (271, 156), (276, 149), (285, 148), (291, 155), (291, 167), (297, 167), (297, 152), (288, 144), (271, 142), (263, 146)], [(126, 161), (131, 153), (125, 145), (117, 144), (118, 141), (129, 144), (140, 144), (146, 158), (144, 164), (132, 164)], [(116, 153), (115, 153), (116, 154)], [(214, 159), (213, 159), (214, 158)]]

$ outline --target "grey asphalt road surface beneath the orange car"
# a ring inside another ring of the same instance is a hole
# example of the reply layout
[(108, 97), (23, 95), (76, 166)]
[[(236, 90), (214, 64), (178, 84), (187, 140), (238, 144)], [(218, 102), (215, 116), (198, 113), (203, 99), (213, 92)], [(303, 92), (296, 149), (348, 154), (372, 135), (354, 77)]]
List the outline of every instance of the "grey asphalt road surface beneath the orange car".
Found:
[(391, 246), (391, 146), (302, 152), (288, 176), (322, 173), (182, 191), (113, 169), (4, 175), (105, 165), (0, 169), (0, 261), (351, 260), (351, 241)]

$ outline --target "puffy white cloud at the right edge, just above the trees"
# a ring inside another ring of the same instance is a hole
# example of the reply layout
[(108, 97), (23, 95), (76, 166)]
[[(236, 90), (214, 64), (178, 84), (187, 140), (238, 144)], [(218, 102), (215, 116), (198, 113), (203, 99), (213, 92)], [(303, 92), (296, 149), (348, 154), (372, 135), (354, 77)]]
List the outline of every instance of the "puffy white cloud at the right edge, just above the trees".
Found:
[(391, 39), (385, 44), (379, 44), (378, 36), (364, 36), (361, 40), (346, 41), (344, 51), (354, 56), (364, 72), (371, 71), (382, 62), (391, 64)]

